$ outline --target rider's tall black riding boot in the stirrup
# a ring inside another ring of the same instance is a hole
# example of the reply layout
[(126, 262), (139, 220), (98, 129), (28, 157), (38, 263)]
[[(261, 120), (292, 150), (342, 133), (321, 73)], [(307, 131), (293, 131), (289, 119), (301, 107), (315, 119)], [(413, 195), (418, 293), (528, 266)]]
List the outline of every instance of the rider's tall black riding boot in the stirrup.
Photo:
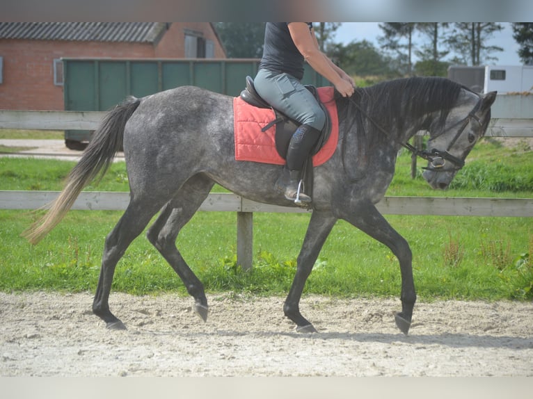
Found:
[(285, 198), (294, 201), (295, 204), (308, 204), (311, 197), (302, 193), (301, 171), (305, 160), (317, 142), (320, 131), (307, 124), (302, 124), (289, 142), (287, 149), (287, 165), (283, 168), (283, 173), (276, 183), (276, 188), (283, 192)]

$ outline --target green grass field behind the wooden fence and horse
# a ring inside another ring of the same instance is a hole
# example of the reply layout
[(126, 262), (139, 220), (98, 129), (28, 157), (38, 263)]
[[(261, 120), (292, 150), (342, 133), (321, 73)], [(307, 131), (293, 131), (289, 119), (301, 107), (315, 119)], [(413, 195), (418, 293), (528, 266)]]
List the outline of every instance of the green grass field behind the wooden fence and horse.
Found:
[[(507, 149), (486, 140), (472, 151), (456, 177), (457, 186), (436, 192), (422, 178), (411, 179), (410, 156), (403, 154), (388, 195), (533, 197), (533, 185), (527, 183), (532, 181), (531, 155), (525, 149)], [(59, 190), (73, 165), (0, 158), (0, 190)], [(498, 174), (487, 173), (483, 165)], [(88, 190), (127, 187), (125, 164), (115, 163), (102, 182)], [(32, 247), (19, 234), (34, 216), (26, 211), (0, 211), (0, 290), (94, 291), (104, 238), (121, 214), (71, 211), (45, 240)], [(309, 218), (308, 214), (255, 213), (254, 265), (248, 272), (236, 264), (234, 213), (196, 213), (177, 245), (208, 292), (285, 295)], [(387, 219), (411, 245), (420, 298), (533, 299), (530, 218), (387, 215)], [(305, 292), (397, 297), (400, 283), (397, 259), (390, 250), (339, 221)], [(180, 279), (144, 236), (132, 243), (118, 264), (113, 290), (186, 294)]]

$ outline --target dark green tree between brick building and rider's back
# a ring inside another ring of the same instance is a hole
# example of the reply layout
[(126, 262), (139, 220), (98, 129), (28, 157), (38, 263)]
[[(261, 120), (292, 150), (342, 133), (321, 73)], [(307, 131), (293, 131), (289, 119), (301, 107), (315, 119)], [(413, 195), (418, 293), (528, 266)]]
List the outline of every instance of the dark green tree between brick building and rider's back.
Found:
[(264, 22), (216, 22), (228, 58), (261, 58)]

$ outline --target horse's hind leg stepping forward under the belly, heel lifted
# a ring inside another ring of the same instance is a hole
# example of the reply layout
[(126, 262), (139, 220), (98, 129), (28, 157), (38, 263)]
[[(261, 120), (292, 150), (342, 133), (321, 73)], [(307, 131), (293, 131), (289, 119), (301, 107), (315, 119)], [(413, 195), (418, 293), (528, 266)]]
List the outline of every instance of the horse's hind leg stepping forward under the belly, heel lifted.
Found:
[(159, 218), (146, 233), (150, 243), (161, 252), (161, 255), (182, 279), (187, 292), (194, 298), (196, 314), (204, 321), (207, 320), (207, 298), (205, 298), (204, 287), (184, 261), (175, 243), (180, 230), (191, 220), (209, 195), (213, 185), (211, 179), (201, 174), (191, 177), (175, 197), (164, 206)]

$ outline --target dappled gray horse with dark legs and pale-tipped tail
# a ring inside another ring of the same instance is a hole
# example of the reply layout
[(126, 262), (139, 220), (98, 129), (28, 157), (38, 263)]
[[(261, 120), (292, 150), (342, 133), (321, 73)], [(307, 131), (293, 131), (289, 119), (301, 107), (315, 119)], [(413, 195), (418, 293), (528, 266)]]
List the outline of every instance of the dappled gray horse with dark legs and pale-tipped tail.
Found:
[[(395, 320), (401, 332), (408, 333), (416, 300), (411, 249), (374, 205), (392, 180), (397, 152), (421, 130), (430, 134), (429, 151), (417, 152), (429, 161), (424, 179), (433, 188), (447, 188), (484, 136), (495, 95), (478, 95), (447, 79), (411, 78), (358, 88), (349, 99), (335, 99), (337, 149), (315, 168), (312, 215), (283, 306), (298, 331), (316, 331), (301, 315), (299, 302), (322, 245), (335, 222), (343, 219), (387, 245), (399, 260), (402, 310)], [(117, 262), (157, 212), (148, 240), (180, 276), (195, 300), (195, 311), (207, 320), (202, 283), (175, 241), (214, 184), (257, 202), (294, 206), (274, 190), (282, 166), (235, 161), (232, 102), (232, 97), (189, 86), (127, 99), (104, 117), (61, 194), (25, 232), (31, 243), (38, 243), (61, 221), (83, 187), (103, 176), (124, 148), (130, 200), (106, 237), (93, 302), (93, 312), (107, 327), (125, 328), (109, 310), (111, 282)]]

